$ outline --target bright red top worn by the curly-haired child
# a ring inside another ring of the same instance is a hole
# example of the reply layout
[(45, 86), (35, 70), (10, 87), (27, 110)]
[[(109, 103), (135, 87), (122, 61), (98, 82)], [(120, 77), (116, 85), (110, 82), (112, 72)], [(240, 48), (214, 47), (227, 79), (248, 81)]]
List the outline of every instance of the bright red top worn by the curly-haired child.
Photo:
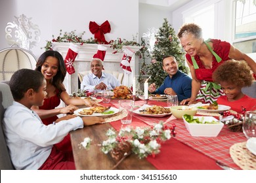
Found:
[(246, 111), (252, 110), (253, 107), (255, 107), (256, 109), (256, 99), (251, 98), (247, 95), (244, 95), (244, 97), (242, 97), (241, 99), (232, 102), (228, 101), (226, 95), (223, 95), (217, 99), (217, 103), (219, 105), (230, 106), (231, 110), (234, 110), (240, 114), (242, 113), (242, 108), (245, 108)]

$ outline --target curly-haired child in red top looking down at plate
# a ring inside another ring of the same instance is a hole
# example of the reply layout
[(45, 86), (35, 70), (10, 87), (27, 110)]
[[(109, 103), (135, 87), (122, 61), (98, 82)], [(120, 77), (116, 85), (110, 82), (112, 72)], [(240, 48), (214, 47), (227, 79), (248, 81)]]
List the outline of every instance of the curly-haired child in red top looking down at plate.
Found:
[(221, 85), (225, 93), (217, 99), (219, 105), (230, 106), (231, 110), (240, 114), (256, 107), (256, 99), (242, 93), (242, 88), (251, 86), (253, 82), (250, 68), (245, 61), (225, 61), (214, 71), (213, 80)]

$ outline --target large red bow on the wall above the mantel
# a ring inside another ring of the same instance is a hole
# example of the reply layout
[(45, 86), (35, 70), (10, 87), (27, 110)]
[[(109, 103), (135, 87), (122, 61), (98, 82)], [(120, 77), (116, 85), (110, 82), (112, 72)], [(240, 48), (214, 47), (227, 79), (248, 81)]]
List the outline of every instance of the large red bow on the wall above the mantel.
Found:
[(98, 43), (108, 44), (104, 37), (104, 34), (110, 33), (111, 31), (108, 20), (106, 20), (102, 25), (98, 25), (96, 22), (90, 21), (89, 30), (95, 35), (95, 39), (97, 39)]

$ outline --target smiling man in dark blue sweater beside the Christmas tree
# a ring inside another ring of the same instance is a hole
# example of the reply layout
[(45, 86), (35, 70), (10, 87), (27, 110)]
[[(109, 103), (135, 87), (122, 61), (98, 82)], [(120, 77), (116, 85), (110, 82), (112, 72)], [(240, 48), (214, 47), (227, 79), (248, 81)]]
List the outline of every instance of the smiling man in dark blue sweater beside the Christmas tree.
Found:
[(163, 58), (163, 71), (168, 74), (163, 84), (158, 89), (156, 89), (156, 84), (150, 84), (148, 91), (151, 93), (177, 95), (179, 101), (190, 98), (192, 78), (179, 71), (178, 63), (174, 56), (165, 56)]

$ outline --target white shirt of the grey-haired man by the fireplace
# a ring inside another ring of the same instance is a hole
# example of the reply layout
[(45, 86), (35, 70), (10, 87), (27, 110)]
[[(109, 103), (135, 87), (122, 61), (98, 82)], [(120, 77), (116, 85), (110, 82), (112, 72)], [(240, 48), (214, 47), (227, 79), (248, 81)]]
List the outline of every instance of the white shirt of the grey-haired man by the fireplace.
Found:
[[(108, 73), (103, 73), (100, 78), (95, 76), (93, 73), (83, 76), (83, 81), (81, 82), (81, 90), (94, 90), (97, 84), (103, 82), (108, 87), (107, 90), (113, 90), (116, 86), (120, 86), (119, 80), (113, 75)], [(100, 90), (97, 90), (99, 92)]]

